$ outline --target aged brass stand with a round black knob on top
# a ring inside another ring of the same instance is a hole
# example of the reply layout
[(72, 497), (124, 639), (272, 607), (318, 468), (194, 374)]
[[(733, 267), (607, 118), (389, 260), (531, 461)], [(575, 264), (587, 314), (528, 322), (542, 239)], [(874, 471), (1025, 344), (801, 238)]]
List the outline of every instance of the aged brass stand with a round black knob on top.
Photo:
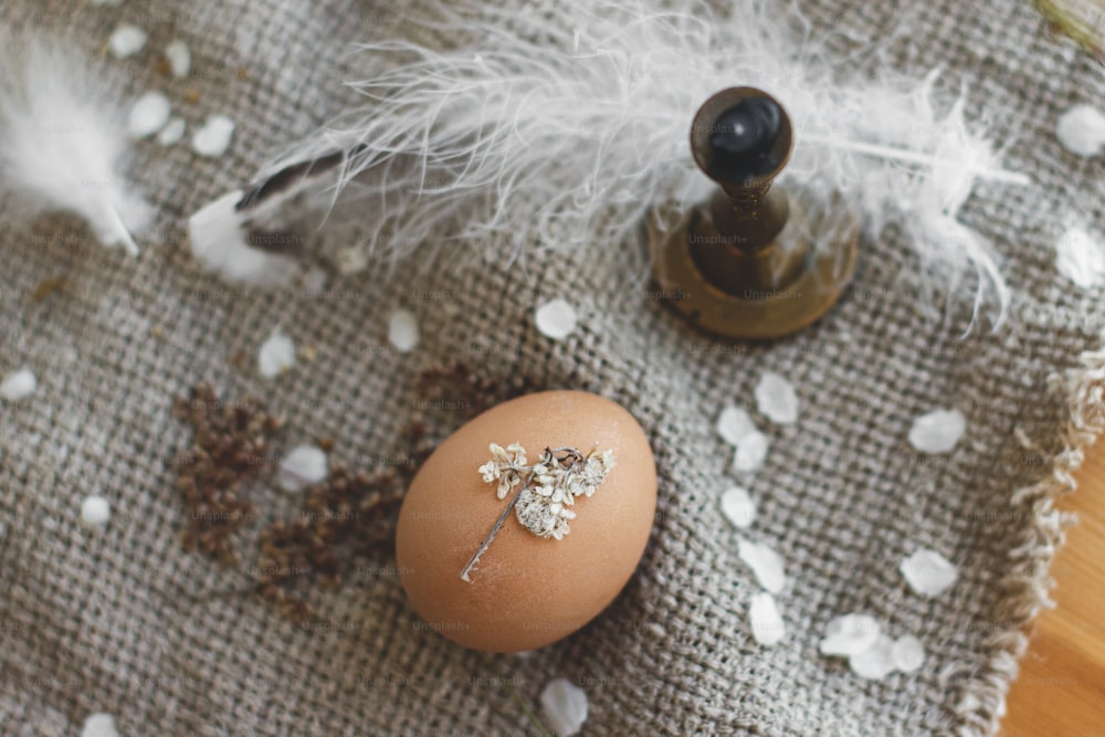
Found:
[(691, 150), (720, 187), (682, 217), (657, 209), (646, 228), (665, 302), (707, 333), (794, 333), (829, 312), (855, 272), (855, 214), (772, 188), (792, 148), (790, 118), (760, 90), (723, 90), (695, 115)]

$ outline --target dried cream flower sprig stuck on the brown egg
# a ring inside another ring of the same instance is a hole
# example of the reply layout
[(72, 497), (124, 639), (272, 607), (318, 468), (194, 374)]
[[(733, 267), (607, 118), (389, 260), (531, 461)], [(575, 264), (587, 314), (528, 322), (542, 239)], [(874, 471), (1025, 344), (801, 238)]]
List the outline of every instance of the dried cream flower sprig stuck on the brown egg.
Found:
[(480, 474), (486, 483), (496, 484), (498, 498), (506, 498), (511, 492), (514, 496), (461, 571), (461, 579), (467, 582), (472, 580), (469, 573), (491, 547), (512, 509), (522, 526), (534, 535), (560, 540), (571, 531), (569, 522), (576, 518), (569, 507), (577, 497), (593, 495), (614, 467), (613, 451), (600, 453), (598, 443), (586, 455), (575, 448), (546, 448), (533, 465), (526, 464), (526, 449), (518, 443), (506, 448), (492, 443), (488, 450), (492, 457), (480, 466)]

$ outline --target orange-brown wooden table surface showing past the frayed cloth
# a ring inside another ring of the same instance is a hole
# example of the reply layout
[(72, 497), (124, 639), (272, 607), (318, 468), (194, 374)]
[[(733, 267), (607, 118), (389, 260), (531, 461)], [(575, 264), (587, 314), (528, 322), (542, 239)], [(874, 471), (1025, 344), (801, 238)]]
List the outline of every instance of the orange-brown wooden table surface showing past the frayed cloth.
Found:
[(1032, 628), (1002, 737), (1105, 737), (1105, 442), (1059, 506), (1080, 520), (1052, 564), (1057, 607)]

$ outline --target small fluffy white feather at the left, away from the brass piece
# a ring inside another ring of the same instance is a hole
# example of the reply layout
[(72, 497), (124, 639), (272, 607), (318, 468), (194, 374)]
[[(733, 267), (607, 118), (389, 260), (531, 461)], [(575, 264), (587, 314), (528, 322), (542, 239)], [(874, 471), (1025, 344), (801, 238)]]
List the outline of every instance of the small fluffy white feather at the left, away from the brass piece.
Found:
[(0, 33), (0, 188), (4, 214), (66, 211), (101, 243), (137, 253), (152, 211), (123, 177), (126, 125), (90, 65), (36, 34)]

